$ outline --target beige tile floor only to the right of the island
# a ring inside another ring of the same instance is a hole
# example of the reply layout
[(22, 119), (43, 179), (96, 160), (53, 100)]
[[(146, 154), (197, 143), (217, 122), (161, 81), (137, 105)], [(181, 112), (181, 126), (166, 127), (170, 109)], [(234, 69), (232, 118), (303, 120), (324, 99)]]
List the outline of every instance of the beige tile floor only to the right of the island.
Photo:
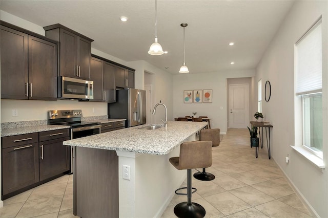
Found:
[[(216, 178), (192, 178), (197, 188), (192, 201), (205, 208), (205, 217), (312, 217), (268, 152), (259, 149), (255, 158), (249, 137), (248, 129), (228, 130), (213, 147), (213, 164), (206, 169)], [(161, 217), (176, 217), (174, 206), (185, 201), (186, 196), (175, 195)]]

